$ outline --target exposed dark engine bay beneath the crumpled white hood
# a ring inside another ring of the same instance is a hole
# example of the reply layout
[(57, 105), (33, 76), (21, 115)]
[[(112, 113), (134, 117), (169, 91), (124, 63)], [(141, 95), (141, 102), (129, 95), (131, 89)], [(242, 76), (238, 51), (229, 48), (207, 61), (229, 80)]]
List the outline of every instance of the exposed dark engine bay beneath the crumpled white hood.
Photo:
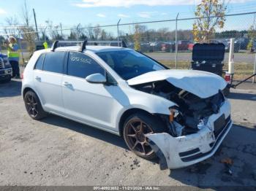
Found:
[(209, 98), (200, 98), (171, 85), (166, 80), (132, 85), (132, 87), (176, 103), (176, 106), (170, 108), (170, 116), (161, 116), (167, 124), (168, 133), (174, 137), (196, 133), (206, 125), (211, 114), (219, 112), (220, 106), (225, 101), (221, 90)]

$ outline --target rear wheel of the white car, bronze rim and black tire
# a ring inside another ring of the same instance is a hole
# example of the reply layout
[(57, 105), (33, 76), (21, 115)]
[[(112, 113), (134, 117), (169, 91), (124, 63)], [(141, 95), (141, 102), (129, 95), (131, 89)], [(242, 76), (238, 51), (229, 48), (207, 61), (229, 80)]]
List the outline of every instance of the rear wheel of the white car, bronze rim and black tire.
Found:
[(47, 116), (47, 112), (42, 109), (40, 100), (34, 91), (29, 90), (24, 96), (26, 111), (33, 120), (42, 120)]

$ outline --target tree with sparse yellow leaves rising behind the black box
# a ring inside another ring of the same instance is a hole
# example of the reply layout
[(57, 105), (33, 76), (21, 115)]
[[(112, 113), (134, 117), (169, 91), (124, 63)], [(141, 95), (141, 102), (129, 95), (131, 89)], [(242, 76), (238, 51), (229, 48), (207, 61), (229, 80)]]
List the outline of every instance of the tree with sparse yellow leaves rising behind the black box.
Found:
[(216, 28), (223, 28), (225, 24), (225, 0), (202, 0), (197, 5), (192, 34), (195, 42), (208, 42), (214, 37)]

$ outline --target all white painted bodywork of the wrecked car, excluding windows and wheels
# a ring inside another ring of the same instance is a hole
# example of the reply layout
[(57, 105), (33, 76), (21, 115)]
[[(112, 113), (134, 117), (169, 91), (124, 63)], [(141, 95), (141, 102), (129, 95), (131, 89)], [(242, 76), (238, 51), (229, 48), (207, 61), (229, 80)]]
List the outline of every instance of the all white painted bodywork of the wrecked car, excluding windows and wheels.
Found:
[[(67, 47), (59, 47), (56, 51), (66, 50), (65, 48)], [(77, 49), (78, 47), (69, 47), (67, 51), (77, 51)], [(176, 103), (166, 98), (135, 90), (131, 85), (167, 80), (172, 85), (187, 90), (200, 98), (208, 98), (211, 95), (215, 95), (227, 85), (224, 79), (215, 74), (190, 70), (152, 71), (125, 81), (95, 54), (95, 52), (105, 50), (129, 49), (88, 46), (84, 51), (108, 71), (116, 80), (117, 85), (94, 84), (87, 82), (86, 79), (70, 77), (66, 74), (34, 70), (37, 58), (42, 52), (50, 52), (50, 49), (48, 49), (34, 52), (31, 57), (23, 73), (22, 93), (26, 87), (34, 90), (39, 95), (39, 100), (45, 112), (57, 114), (119, 135), (119, 122), (124, 112), (129, 109), (142, 109), (151, 114), (169, 115), (170, 106), (176, 106)], [(41, 79), (37, 80), (35, 79), (36, 77)], [(69, 85), (65, 85), (65, 82)], [(51, 101), (46, 103), (45, 100)], [(197, 163), (214, 154), (232, 126), (232, 122), (230, 122), (230, 126), (214, 149), (208, 147), (208, 143), (215, 140), (212, 123), (221, 114), (225, 114), (225, 117), (230, 115), (230, 104), (227, 100), (219, 109), (219, 113), (211, 115), (206, 127), (198, 131), (198, 133), (181, 137), (173, 137), (169, 133), (154, 133), (148, 135), (148, 139), (153, 141), (164, 154), (168, 168), (181, 168)], [(181, 158), (178, 157), (178, 152), (186, 152), (194, 147), (199, 147), (200, 152), (211, 152), (197, 160), (186, 163), (181, 161)]]

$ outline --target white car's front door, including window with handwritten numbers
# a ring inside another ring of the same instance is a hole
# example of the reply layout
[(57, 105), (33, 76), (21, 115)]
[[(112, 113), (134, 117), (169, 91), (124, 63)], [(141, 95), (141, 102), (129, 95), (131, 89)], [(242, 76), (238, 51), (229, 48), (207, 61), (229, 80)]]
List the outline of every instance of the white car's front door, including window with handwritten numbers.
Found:
[(99, 128), (113, 129), (112, 95), (116, 85), (95, 84), (86, 81), (90, 74), (105, 75), (105, 69), (89, 55), (69, 52), (67, 75), (62, 79), (63, 101), (67, 116)]

